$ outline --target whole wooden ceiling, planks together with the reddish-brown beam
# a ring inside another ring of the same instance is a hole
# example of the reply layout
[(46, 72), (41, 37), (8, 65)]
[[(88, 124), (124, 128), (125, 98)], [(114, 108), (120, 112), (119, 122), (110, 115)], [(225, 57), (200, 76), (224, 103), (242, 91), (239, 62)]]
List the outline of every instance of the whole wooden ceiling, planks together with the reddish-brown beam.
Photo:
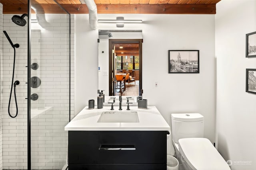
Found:
[[(56, 0), (70, 14), (88, 14), (84, 0)], [(216, 14), (220, 0), (94, 0), (98, 14)], [(27, 13), (28, 0), (0, 0), (4, 14)], [(38, 13), (62, 14), (54, 0), (31, 0)]]

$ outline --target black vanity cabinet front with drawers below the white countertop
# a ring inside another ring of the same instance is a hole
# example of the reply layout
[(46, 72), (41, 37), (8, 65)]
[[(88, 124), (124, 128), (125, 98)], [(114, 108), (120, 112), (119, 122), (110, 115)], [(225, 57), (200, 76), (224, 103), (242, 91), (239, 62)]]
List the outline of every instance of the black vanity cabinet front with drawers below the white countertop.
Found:
[(69, 170), (166, 170), (166, 131), (69, 131)]

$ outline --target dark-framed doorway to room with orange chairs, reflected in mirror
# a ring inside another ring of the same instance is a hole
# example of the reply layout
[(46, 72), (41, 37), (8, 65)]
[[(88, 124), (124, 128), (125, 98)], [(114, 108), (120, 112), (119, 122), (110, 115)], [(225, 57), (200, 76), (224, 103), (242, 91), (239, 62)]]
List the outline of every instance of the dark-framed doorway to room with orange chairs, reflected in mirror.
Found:
[(141, 39), (109, 39), (109, 95), (140, 96)]

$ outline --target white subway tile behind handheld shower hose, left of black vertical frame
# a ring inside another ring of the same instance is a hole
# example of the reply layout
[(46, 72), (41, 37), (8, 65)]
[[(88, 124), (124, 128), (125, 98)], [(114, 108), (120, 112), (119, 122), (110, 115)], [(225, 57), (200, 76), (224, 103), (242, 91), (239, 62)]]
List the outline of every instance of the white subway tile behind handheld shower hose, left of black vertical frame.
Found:
[[(28, 26), (18, 26), (11, 20), (13, 15), (4, 15), (3, 29), (8, 33), (16, 48), (14, 81), (19, 80), (16, 86), (18, 116), (11, 118), (8, 115), (8, 102), (12, 83), (12, 68), (14, 62), (14, 49), (3, 37), (3, 168), (24, 169), (27, 164), (27, 29)], [(14, 94), (10, 104), (10, 113), (16, 114)]]

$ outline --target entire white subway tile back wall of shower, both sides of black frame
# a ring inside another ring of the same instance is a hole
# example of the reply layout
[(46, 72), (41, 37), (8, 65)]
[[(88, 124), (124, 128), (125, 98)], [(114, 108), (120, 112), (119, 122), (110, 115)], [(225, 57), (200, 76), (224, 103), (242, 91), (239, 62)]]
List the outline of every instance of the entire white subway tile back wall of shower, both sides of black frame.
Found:
[[(13, 66), (13, 49), (7, 39), (3, 41), (3, 168), (27, 169), (27, 25), (15, 25), (13, 15), (4, 14), (4, 30), (16, 49), (14, 80), (18, 116), (8, 116), (8, 100)], [(36, 18), (32, 15), (32, 18)], [(32, 23), (31, 77), (40, 78), (40, 86), (31, 88), (38, 100), (31, 100), (31, 164), (32, 169), (61, 169), (66, 163), (68, 133), (64, 126), (69, 121), (69, 16), (66, 14), (40, 14), (40, 25)], [(74, 15), (71, 15), (71, 118), (74, 117)], [(27, 19), (27, 18), (25, 18)], [(44, 19), (44, 20), (42, 20)], [(11, 113), (16, 113), (12, 96)], [(1, 132), (0, 132), (1, 134)]]

